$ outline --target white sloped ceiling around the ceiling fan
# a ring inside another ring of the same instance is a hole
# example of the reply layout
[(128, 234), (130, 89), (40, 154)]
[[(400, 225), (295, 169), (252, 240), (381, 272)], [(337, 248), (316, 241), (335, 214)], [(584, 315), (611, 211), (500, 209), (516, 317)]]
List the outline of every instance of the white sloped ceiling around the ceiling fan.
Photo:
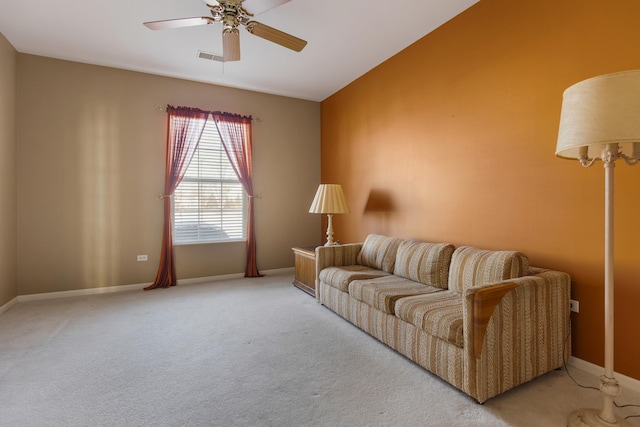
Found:
[(22, 53), (322, 101), (477, 1), (291, 0), (255, 20), (307, 40), (302, 52), (242, 28), (227, 63), (197, 57), (222, 53), (220, 24), (142, 25), (210, 16), (202, 0), (0, 0), (0, 33)]

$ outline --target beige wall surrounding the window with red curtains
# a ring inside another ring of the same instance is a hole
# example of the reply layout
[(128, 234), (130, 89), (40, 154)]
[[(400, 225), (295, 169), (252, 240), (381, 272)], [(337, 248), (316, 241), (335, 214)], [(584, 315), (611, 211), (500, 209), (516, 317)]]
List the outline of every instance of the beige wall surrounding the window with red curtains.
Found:
[[(166, 113), (252, 115), (258, 268), (319, 239), (320, 104), (18, 54), (18, 292), (152, 282)], [(176, 247), (179, 279), (244, 272), (244, 243)], [(148, 262), (136, 255), (147, 254)]]

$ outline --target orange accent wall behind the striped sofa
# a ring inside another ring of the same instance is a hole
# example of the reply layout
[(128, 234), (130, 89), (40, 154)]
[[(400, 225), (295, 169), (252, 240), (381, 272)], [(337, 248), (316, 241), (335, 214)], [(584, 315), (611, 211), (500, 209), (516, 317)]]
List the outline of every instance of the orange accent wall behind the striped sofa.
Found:
[[(603, 366), (604, 170), (554, 153), (563, 91), (640, 68), (639, 49), (637, 0), (481, 0), (322, 102), (322, 182), (352, 211), (335, 238), (514, 249), (566, 271), (573, 354)], [(615, 180), (615, 369), (640, 379), (640, 166)]]

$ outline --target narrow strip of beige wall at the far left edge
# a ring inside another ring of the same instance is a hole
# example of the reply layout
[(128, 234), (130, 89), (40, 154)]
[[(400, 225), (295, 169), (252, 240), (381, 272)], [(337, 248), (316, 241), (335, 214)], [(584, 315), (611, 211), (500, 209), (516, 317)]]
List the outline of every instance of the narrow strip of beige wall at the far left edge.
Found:
[(17, 296), (16, 58), (0, 33), (0, 307)]

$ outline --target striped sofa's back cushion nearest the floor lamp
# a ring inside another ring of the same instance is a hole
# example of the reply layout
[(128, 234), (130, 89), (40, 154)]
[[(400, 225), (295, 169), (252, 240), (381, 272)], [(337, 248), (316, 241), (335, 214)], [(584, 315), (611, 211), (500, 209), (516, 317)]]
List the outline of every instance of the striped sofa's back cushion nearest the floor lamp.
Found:
[(529, 259), (516, 251), (489, 251), (461, 246), (453, 252), (449, 289), (465, 289), (529, 274)]

